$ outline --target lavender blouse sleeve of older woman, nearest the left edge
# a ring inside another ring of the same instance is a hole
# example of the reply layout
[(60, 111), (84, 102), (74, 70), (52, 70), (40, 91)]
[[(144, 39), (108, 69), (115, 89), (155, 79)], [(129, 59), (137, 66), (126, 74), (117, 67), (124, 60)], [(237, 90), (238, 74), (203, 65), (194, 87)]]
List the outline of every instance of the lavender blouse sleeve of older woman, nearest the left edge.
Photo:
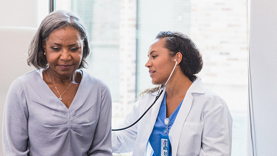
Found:
[(2, 123), (4, 155), (27, 155), (28, 108), (23, 86), (15, 79), (7, 92)]

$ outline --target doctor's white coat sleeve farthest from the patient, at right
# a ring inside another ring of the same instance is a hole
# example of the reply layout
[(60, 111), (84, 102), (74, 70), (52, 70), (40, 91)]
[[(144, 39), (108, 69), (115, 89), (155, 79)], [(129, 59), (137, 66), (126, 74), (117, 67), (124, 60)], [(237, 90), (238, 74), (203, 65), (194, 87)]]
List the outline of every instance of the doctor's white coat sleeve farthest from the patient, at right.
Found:
[(233, 122), (231, 113), (221, 98), (212, 102), (218, 104), (204, 115), (200, 156), (231, 156)]

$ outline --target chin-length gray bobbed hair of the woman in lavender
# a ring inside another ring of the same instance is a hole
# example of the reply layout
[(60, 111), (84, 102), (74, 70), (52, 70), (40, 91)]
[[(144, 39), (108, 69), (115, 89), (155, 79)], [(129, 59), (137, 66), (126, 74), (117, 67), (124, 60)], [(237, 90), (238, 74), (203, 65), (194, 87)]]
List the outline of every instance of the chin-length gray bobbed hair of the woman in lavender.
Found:
[(46, 56), (43, 54), (43, 43), (47, 41), (51, 32), (64, 27), (73, 27), (79, 31), (80, 36), (83, 39), (84, 47), (83, 57), (78, 68), (85, 67), (85, 64), (87, 64), (85, 58), (90, 52), (87, 31), (78, 15), (65, 10), (53, 11), (42, 20), (29, 45), (29, 56), (27, 58), (28, 65), (33, 65), (37, 69), (48, 66)]

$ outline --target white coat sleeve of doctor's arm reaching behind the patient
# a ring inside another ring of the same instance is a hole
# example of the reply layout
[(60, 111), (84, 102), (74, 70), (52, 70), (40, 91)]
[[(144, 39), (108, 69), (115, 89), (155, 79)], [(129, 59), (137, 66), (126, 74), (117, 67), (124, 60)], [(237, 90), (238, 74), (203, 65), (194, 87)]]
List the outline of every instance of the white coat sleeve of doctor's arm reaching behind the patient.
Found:
[[(139, 103), (141, 97), (133, 106), (124, 120), (117, 126), (118, 128), (126, 127), (134, 123), (139, 118)], [(137, 124), (119, 131), (112, 131), (112, 151), (115, 153), (131, 152), (134, 149), (137, 138)]]

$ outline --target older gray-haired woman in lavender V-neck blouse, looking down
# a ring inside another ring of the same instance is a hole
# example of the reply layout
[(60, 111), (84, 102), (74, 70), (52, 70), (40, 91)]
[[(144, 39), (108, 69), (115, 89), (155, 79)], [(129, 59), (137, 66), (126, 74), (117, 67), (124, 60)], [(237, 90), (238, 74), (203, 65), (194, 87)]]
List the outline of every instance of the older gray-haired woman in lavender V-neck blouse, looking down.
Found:
[(78, 16), (54, 11), (41, 22), (4, 106), (5, 155), (112, 155), (111, 95), (81, 68), (89, 54)]

